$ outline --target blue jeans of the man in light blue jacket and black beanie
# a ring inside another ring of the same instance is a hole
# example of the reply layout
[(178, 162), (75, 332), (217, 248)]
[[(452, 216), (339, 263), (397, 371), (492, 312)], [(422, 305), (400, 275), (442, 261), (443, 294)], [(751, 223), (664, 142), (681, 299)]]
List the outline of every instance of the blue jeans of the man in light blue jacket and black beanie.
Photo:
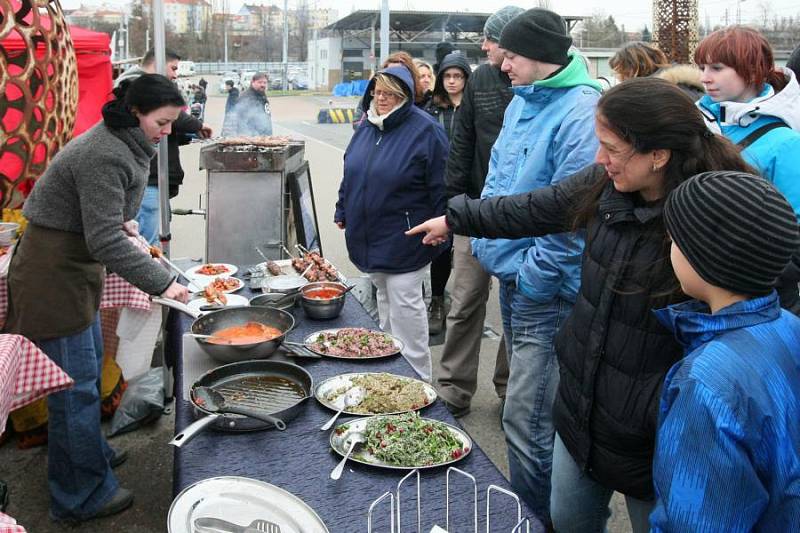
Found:
[(511, 486), (545, 524), (550, 522), (553, 460), (553, 402), (558, 360), (553, 340), (572, 311), (555, 298), (535, 302), (513, 284), (501, 284), (500, 306), (506, 346), (511, 347), (503, 429), (508, 445)]

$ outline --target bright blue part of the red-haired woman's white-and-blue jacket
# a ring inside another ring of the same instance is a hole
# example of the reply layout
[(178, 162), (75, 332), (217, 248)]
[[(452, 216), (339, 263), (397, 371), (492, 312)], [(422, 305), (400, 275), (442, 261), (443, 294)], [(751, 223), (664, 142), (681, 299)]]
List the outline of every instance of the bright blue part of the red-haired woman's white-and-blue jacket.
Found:
[[(757, 98), (771, 91), (772, 88), (767, 84)], [(725, 102), (714, 102), (708, 95), (697, 102), (702, 111), (714, 116), (722, 134), (733, 143), (738, 143), (765, 124), (782, 122), (778, 117), (760, 115), (747, 125), (726, 124), (721, 120), (724, 105)], [(800, 133), (789, 127), (774, 129), (745, 148), (742, 157), (783, 193), (800, 220)]]

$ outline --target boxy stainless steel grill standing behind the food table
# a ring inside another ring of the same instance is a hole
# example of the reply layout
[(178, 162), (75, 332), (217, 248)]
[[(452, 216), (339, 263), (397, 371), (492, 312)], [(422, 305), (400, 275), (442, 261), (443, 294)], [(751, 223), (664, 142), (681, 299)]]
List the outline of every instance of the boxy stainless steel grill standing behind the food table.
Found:
[(241, 137), (200, 150), (208, 191), (205, 261), (255, 264), (263, 260), (256, 246), (270, 259), (284, 258), (281, 244), (298, 242), (295, 218), (303, 219), (290, 193), (291, 182), (308, 175), (304, 149), (303, 141)]

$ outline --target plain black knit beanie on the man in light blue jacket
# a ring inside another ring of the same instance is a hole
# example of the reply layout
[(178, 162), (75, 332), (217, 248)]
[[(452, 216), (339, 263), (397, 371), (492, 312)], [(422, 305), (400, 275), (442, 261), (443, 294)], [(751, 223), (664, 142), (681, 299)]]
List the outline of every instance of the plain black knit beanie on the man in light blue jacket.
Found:
[(514, 17), (500, 34), (500, 47), (543, 63), (566, 65), (572, 37), (557, 13), (534, 8)]

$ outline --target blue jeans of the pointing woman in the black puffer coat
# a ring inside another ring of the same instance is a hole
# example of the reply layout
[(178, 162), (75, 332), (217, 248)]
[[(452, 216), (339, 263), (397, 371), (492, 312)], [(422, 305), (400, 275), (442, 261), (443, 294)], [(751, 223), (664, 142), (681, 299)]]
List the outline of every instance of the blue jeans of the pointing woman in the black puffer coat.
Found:
[[(606, 522), (611, 516), (608, 503), (614, 491), (582, 471), (557, 434), (553, 449), (552, 481), (550, 512), (556, 531), (559, 533), (606, 531)], [(633, 533), (649, 531), (648, 519), (655, 501), (625, 496), (625, 505), (628, 507)]]

